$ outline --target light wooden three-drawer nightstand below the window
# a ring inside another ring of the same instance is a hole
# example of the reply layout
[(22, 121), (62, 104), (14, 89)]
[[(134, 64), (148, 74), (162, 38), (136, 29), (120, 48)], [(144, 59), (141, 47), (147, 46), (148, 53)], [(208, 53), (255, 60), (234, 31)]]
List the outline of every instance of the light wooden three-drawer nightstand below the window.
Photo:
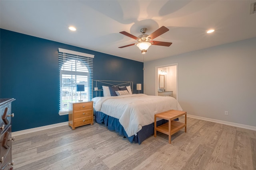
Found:
[(68, 125), (72, 130), (78, 126), (93, 125), (93, 102), (69, 103)]

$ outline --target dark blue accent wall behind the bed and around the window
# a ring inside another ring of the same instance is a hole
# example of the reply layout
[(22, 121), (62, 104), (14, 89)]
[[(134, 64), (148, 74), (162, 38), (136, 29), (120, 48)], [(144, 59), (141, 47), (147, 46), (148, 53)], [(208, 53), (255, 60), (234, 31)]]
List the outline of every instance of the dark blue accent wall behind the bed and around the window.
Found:
[(94, 80), (133, 81), (134, 93), (143, 87), (141, 62), (0, 29), (0, 98), (16, 99), (13, 132), (68, 121), (58, 114), (58, 48), (94, 55)]

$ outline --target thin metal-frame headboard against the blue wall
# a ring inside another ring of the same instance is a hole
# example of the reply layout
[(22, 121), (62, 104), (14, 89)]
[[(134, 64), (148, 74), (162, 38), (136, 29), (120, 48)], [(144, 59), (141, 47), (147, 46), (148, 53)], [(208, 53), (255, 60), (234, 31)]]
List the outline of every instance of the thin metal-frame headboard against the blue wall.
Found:
[[(130, 81), (114, 81), (114, 80), (93, 80), (93, 96), (103, 96), (102, 86), (131, 86), (133, 92), (133, 82)], [(98, 90), (95, 90), (98, 88)]]

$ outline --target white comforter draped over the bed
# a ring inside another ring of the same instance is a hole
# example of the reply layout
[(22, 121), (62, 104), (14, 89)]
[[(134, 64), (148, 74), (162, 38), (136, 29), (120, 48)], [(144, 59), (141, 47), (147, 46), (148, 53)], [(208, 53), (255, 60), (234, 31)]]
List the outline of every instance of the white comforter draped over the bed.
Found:
[(130, 94), (124, 96), (93, 98), (94, 109), (119, 119), (127, 135), (136, 135), (142, 126), (154, 122), (154, 115), (167, 110), (182, 108), (175, 98)]

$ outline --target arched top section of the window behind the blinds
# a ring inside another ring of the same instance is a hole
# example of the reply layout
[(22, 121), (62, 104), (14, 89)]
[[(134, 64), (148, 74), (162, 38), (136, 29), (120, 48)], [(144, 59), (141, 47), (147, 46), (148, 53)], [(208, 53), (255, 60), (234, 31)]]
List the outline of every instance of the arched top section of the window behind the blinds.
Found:
[(61, 70), (63, 71), (75, 71), (75, 72), (88, 72), (88, 68), (85, 63), (79, 60), (68, 60), (66, 61)]

